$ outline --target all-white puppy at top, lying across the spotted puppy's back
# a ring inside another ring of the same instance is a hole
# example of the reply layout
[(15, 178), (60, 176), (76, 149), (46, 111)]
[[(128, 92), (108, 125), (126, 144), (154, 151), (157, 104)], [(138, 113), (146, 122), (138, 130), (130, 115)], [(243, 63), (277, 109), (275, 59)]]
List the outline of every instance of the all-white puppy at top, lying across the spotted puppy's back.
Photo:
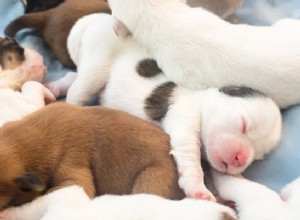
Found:
[(282, 108), (300, 103), (300, 21), (230, 24), (184, 0), (108, 0), (120, 37), (132, 34), (167, 77), (190, 89), (244, 85)]

